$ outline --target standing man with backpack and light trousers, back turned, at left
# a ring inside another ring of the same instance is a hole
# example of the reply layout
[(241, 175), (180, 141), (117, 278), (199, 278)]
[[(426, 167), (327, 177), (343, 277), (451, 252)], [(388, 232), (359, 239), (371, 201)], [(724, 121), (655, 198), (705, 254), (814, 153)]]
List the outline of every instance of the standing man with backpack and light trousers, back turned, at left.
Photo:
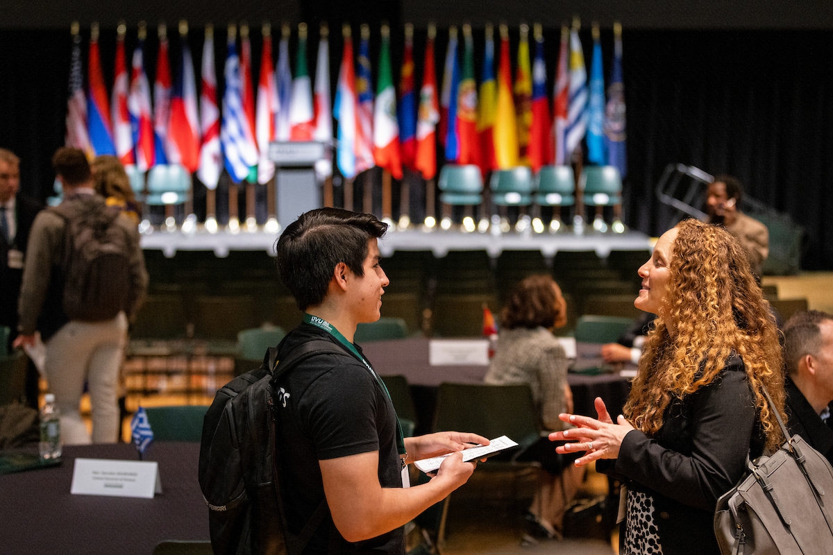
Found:
[[(64, 198), (32, 224), (14, 344), (32, 345), (41, 332), (49, 389), (61, 410), (62, 443), (115, 443), (127, 320), (147, 290), (138, 230), (92, 189), (83, 151), (59, 148), (52, 167)], [(85, 382), (92, 438), (78, 408)]]

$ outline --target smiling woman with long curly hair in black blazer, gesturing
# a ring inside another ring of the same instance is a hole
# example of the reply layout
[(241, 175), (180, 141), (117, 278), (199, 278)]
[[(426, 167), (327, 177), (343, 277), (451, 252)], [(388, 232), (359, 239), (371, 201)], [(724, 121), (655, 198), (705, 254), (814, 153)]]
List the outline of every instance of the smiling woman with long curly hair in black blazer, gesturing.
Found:
[(775, 320), (748, 257), (726, 230), (687, 220), (662, 235), (639, 270), (636, 308), (656, 314), (624, 414), (596, 399), (597, 419), (560, 418), (551, 434), (584, 451), (576, 465), (626, 486), (620, 553), (720, 553), (717, 498), (741, 478), (746, 457), (783, 441), (784, 377)]

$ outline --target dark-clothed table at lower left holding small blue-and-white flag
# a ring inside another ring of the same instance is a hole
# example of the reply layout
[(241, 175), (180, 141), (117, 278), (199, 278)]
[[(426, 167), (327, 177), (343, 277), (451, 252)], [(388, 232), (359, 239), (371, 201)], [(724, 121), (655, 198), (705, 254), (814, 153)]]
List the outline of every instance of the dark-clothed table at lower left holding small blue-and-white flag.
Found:
[(65, 446), (59, 466), (0, 476), (0, 553), (150, 555), (162, 540), (207, 540), (197, 443), (155, 442), (162, 493), (152, 499), (69, 493), (76, 458), (137, 460), (130, 444)]

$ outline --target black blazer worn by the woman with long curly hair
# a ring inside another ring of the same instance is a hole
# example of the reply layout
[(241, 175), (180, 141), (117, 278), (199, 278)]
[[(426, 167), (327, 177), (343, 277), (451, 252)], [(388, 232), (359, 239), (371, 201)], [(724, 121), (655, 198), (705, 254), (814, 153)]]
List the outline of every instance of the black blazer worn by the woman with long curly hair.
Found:
[(761, 455), (763, 443), (746, 367), (733, 354), (714, 382), (671, 401), (656, 437), (629, 432), (619, 458), (596, 468), (651, 494), (662, 553), (719, 555), (717, 498), (744, 474), (747, 454)]

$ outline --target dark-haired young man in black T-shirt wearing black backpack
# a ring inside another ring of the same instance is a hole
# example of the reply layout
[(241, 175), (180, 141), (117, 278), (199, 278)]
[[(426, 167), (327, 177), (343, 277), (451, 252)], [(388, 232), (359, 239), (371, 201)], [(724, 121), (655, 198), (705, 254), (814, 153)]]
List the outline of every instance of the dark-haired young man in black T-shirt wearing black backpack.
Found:
[[(474, 471), (476, 434), (404, 438), (390, 396), (353, 343), (388, 280), (369, 214), (322, 208), (277, 241), (303, 323), (260, 369), (223, 387), (202, 427), (199, 479), (214, 553), (405, 553), (402, 527)], [(407, 464), (452, 453), (428, 483)]]

